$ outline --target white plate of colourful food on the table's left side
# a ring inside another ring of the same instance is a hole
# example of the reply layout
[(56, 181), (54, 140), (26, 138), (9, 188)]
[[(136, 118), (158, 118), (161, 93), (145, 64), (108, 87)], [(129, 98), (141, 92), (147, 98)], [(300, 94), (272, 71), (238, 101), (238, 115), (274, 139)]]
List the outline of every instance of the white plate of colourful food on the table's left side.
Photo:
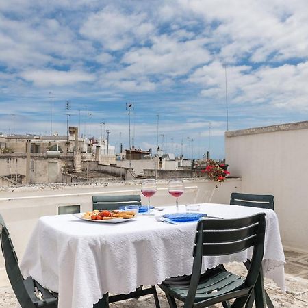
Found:
[(117, 224), (133, 219), (135, 217), (135, 212), (118, 210), (109, 211), (107, 209), (99, 211), (98, 209), (94, 209), (94, 211), (86, 211), (85, 213), (78, 213), (73, 215), (82, 220), (88, 220), (91, 222)]

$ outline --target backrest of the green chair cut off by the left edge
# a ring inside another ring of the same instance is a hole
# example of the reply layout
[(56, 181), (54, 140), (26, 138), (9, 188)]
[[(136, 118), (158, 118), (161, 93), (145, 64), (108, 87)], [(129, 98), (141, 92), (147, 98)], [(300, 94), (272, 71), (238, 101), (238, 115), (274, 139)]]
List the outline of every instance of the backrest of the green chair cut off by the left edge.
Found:
[(10, 279), (12, 289), (16, 295), (18, 302), (22, 307), (35, 307), (29, 298), (25, 285), (23, 284), (23, 275), (18, 266), (17, 255), (14, 251), (14, 246), (10, 238), (10, 233), (5, 227), (3, 217), (0, 214), (0, 239), (1, 249), (5, 261), (5, 270)]

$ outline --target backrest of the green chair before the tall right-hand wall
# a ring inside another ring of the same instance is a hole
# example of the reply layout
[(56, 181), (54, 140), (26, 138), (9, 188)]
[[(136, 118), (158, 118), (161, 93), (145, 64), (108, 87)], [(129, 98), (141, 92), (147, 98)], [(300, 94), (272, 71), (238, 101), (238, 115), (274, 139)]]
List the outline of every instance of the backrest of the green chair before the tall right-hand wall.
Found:
[(230, 204), (274, 210), (274, 196), (271, 194), (240, 194), (239, 192), (232, 192)]

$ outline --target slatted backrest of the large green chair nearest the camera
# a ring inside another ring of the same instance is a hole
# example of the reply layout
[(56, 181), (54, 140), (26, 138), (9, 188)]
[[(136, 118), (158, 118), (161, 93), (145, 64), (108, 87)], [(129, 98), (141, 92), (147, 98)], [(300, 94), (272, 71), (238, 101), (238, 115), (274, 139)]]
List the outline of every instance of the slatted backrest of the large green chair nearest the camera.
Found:
[(198, 285), (203, 256), (230, 255), (253, 246), (251, 266), (245, 280), (245, 287), (252, 288), (264, 255), (265, 226), (264, 213), (237, 219), (200, 220), (193, 251), (192, 290)]

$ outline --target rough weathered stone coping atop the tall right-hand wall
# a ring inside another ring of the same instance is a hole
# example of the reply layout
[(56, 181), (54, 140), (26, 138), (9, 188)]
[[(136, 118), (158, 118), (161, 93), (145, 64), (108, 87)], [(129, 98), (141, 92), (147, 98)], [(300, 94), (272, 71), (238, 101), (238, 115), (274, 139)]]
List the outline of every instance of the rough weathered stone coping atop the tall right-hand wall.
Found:
[(238, 136), (245, 136), (245, 135), (255, 135), (257, 133), (274, 133), (277, 131), (295, 131), (298, 129), (308, 129), (308, 121), (254, 127), (251, 129), (240, 129), (238, 131), (226, 131), (224, 133), (224, 136), (225, 137), (238, 137)]

